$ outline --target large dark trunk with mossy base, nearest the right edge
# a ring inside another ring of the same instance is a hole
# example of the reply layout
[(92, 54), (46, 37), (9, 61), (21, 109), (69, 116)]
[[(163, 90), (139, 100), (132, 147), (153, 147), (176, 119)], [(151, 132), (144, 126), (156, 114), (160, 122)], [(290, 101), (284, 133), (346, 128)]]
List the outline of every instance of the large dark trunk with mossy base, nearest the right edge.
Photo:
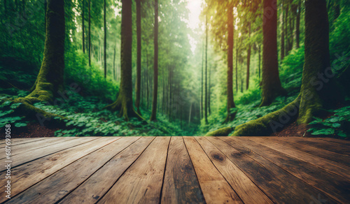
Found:
[(326, 2), (305, 1), (305, 61), (302, 71), (302, 87), (299, 124), (307, 124), (321, 108), (333, 105), (337, 94), (334, 74), (330, 68), (329, 26)]

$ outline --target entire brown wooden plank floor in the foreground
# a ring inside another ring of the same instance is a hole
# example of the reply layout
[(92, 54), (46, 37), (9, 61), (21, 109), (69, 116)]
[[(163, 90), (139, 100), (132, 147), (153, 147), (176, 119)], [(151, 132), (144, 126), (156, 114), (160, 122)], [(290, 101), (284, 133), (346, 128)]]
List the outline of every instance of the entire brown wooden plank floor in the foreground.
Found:
[(12, 142), (11, 198), (1, 159), (0, 203), (350, 203), (350, 145), (332, 138)]

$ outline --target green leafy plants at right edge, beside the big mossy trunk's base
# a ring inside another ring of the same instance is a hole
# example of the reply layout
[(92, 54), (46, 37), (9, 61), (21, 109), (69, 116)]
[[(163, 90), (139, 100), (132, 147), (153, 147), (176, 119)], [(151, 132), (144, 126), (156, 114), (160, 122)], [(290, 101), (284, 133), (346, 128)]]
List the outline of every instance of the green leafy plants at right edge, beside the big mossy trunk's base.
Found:
[(314, 117), (310, 122), (311, 129), (308, 131), (314, 136), (339, 136), (349, 138), (350, 136), (350, 106), (330, 110), (334, 115), (327, 119)]

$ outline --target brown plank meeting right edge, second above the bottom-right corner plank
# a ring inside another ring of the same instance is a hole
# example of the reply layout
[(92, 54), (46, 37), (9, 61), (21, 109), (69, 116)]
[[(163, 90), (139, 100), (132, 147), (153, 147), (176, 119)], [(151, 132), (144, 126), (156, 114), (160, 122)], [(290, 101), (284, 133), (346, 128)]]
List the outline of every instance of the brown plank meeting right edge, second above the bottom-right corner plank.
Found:
[(284, 145), (287, 147), (292, 147), (292, 148), (294, 148), (296, 150), (300, 150), (302, 152), (314, 154), (314, 155), (320, 156), (324, 159), (337, 161), (339, 163), (343, 163), (346, 166), (350, 166), (350, 156), (338, 154), (335, 152), (330, 152), (328, 150), (324, 150), (324, 149), (318, 148), (318, 147), (312, 147), (311, 145), (306, 145), (304, 143), (298, 143), (298, 141), (300, 141), (300, 138), (295, 138), (295, 137), (283, 138), (283, 139), (267, 138), (267, 140), (271, 141), (272, 143), (279, 143), (281, 145)]

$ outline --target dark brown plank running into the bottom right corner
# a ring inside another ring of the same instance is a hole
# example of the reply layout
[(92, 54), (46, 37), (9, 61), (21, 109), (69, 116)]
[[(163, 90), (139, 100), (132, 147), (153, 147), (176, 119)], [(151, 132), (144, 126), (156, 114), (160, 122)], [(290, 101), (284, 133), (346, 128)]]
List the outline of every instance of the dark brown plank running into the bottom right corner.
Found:
[(344, 180), (343, 177), (328, 173), (322, 168), (272, 150), (248, 138), (235, 137), (232, 139), (248, 149), (253, 150), (253, 152), (260, 154), (260, 156), (264, 156), (265, 159), (272, 161), (291, 175), (323, 191), (324, 194), (332, 197), (335, 201), (339, 203), (347, 203), (350, 201), (350, 180)]

